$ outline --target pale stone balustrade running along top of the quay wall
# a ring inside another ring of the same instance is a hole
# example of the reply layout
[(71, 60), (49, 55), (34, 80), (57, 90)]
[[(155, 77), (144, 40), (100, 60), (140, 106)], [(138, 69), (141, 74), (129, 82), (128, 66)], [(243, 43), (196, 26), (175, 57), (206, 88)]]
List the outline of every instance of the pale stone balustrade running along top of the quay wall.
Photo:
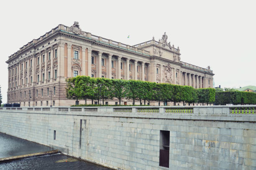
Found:
[(0, 107), (0, 111), (97, 112), (136, 114), (255, 115), (256, 105), (241, 106), (148, 106), (148, 107)]

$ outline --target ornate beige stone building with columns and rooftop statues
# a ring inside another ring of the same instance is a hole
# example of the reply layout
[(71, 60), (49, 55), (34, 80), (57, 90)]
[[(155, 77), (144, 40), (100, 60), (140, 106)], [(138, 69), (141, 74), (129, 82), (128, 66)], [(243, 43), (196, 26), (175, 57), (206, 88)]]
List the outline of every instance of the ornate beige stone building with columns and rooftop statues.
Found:
[(84, 32), (78, 22), (71, 27), (60, 24), (9, 56), (8, 103), (74, 104), (66, 98), (65, 88), (66, 79), (77, 75), (212, 87), (210, 66), (182, 62), (179, 47), (171, 46), (167, 38), (164, 33), (159, 41), (153, 37), (129, 46)]

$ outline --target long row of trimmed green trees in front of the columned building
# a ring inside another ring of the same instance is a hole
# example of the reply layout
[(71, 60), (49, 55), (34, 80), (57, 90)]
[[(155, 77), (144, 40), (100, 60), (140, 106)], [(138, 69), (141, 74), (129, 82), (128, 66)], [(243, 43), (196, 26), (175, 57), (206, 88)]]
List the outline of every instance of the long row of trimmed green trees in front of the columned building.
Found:
[(213, 103), (215, 101), (215, 89), (194, 89), (191, 86), (179, 86), (168, 83), (156, 84), (155, 82), (140, 80), (122, 80), (91, 78), (89, 76), (76, 76), (67, 79), (67, 98), (68, 99), (87, 99), (100, 100), (104, 103), (105, 99), (132, 99), (146, 101), (174, 101), (176, 102), (200, 102)]

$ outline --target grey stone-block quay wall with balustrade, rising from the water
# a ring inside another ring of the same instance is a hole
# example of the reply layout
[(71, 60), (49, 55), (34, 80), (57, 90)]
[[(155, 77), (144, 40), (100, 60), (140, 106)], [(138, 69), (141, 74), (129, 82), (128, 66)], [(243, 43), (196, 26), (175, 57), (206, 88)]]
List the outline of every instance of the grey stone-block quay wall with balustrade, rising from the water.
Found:
[(256, 169), (256, 105), (1, 108), (0, 132), (118, 170)]

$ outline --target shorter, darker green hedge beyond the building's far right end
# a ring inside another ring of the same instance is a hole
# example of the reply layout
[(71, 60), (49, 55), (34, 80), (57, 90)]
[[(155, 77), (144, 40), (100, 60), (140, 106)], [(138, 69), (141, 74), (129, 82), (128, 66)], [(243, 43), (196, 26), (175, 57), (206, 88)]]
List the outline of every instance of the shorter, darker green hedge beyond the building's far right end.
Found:
[(256, 93), (246, 91), (219, 91), (215, 94), (215, 105), (256, 104)]

